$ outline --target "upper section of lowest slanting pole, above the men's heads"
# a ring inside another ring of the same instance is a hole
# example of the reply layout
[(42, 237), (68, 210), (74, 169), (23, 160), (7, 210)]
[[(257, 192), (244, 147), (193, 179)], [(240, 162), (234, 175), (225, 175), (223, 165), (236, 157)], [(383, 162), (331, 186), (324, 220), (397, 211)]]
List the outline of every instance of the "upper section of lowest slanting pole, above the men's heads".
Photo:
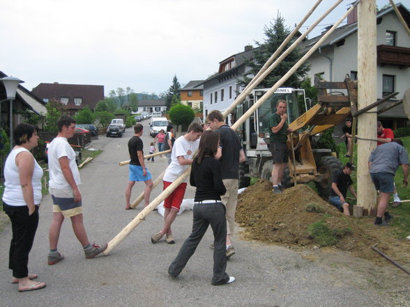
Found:
[(337, 26), (339, 26), (339, 24), (346, 19), (347, 15), (349, 15), (351, 13), (352, 10), (354, 10), (354, 8), (356, 7), (358, 2), (356, 2), (353, 6), (351, 6), (349, 8), (349, 10), (346, 11), (346, 13), (344, 13), (344, 15), (337, 20), (337, 22), (335, 24), (333, 24), (333, 26), (331, 27), (331, 29), (329, 29), (324, 36), (321, 37), (320, 40), (318, 40), (316, 42), (316, 44), (313, 45), (313, 47), (306, 52), (306, 54), (286, 73), (284, 74), (284, 76), (282, 78), (280, 78), (280, 80), (278, 82), (275, 83), (274, 86), (272, 86), (272, 88), (270, 90), (268, 90), (255, 104), (252, 105), (252, 107), (250, 107), (250, 109), (248, 109), (248, 111), (246, 111), (243, 116), (241, 116), (241, 118), (239, 118), (238, 120), (236, 120), (236, 122), (234, 123), (234, 125), (232, 125), (232, 129), (237, 129), (240, 125), (243, 124), (243, 122), (245, 122), (245, 120), (247, 118), (249, 118), (253, 112), (256, 111), (256, 109), (258, 109), (262, 104), (264, 104), (264, 102), (266, 100), (268, 100), (269, 97), (271, 97), (271, 95), (273, 95), (273, 93), (275, 93), (275, 90), (277, 90), (282, 84), (284, 84), (284, 81), (286, 81), (287, 79), (289, 79), (289, 77), (291, 76), (291, 74), (294, 74), (294, 72), (296, 72), (296, 70), (298, 70), (298, 68), (301, 67), (301, 65), (303, 63), (305, 63), (305, 61), (307, 60), (307, 58), (309, 58), (313, 52), (315, 52), (319, 46), (321, 45), (322, 42), (324, 42), (324, 40), (326, 40), (326, 38), (328, 38), (328, 36), (331, 35), (331, 33), (333, 33), (333, 31), (335, 31), (335, 29), (337, 28)]

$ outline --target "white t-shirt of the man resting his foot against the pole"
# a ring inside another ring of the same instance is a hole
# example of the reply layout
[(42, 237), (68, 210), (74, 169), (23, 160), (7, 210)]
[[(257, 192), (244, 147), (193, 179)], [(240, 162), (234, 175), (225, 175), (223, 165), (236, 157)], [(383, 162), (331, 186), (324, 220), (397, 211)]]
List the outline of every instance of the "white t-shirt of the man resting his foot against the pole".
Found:
[(50, 187), (53, 189), (71, 188), (61, 171), (59, 159), (68, 157), (71, 172), (76, 184), (80, 184), (79, 171), (75, 163), (75, 151), (71, 148), (67, 139), (56, 137), (48, 146), (48, 171), (50, 173)]

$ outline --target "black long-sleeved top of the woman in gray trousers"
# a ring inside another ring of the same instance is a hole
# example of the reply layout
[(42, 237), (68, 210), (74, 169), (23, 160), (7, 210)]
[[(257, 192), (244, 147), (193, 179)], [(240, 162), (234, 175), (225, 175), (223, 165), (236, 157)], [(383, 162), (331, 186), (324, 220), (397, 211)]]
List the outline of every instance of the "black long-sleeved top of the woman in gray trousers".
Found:
[(195, 201), (220, 200), (227, 191), (222, 182), (220, 162), (212, 157), (203, 157), (201, 164), (192, 163), (190, 184), (197, 187)]

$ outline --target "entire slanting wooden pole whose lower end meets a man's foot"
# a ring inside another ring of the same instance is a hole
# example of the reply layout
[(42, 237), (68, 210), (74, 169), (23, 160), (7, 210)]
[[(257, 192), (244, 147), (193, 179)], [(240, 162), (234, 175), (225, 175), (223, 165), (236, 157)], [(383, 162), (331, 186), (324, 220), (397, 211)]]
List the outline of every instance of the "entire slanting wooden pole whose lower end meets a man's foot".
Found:
[[(357, 2), (356, 2), (357, 3)], [(336, 24), (333, 25), (333, 27), (324, 35), (323, 38), (321, 38), (321, 40), (319, 40), (314, 47), (312, 47), (312, 49), (310, 49), (309, 52), (307, 52), (305, 54), (305, 56), (303, 56), (301, 58), (301, 60), (298, 61), (298, 63), (296, 63), (296, 65), (294, 65), (294, 67), (289, 70), (289, 72), (287, 72), (287, 74), (284, 75), (284, 77), (282, 77), (276, 84), (275, 86), (273, 86), (273, 88), (271, 88), (271, 90), (268, 91), (271, 92), (270, 95), (272, 95), (273, 93), (275, 93), (275, 90), (279, 88), (280, 85), (282, 85), (284, 83), (284, 81), (286, 81), (291, 74), (293, 74), (306, 60), (307, 58), (309, 58), (309, 56), (319, 47), (319, 45), (321, 44), (321, 42), (323, 42), (326, 38), (328, 38), (329, 35), (331, 35), (331, 33), (333, 33), (333, 31), (335, 31), (335, 29), (337, 28), (337, 26), (340, 24), (340, 22), (342, 22), (347, 15), (349, 15), (349, 13), (351, 12), (351, 10), (353, 10), (353, 8), (356, 6), (356, 3), (354, 6), (351, 6), (351, 8), (349, 8), (349, 10), (347, 10), (347, 12), (343, 15), (343, 17), (337, 21)], [(269, 95), (269, 96), (270, 96)], [(264, 97), (266, 97), (266, 94), (261, 98), (261, 100), (264, 99)], [(265, 100), (268, 98), (268, 96), (265, 98)], [(238, 119), (238, 121), (232, 126), (232, 129), (236, 129), (236, 127), (238, 127), (238, 125), (241, 125), (247, 118), (250, 117), (250, 115), (252, 115), (252, 113), (255, 111), (255, 109), (257, 109), (257, 107), (259, 107), (263, 102), (261, 102), (261, 100), (259, 100), (256, 104), (254, 104), (250, 110), (248, 110), (247, 112), (245, 112), (245, 114), (243, 114), (243, 116), (241, 116), (241, 118)], [(261, 102), (261, 103), (259, 103)], [(112, 251), (112, 249), (114, 249), (114, 247), (119, 244), (119, 242), (121, 242), (123, 239), (125, 239), (130, 232), (135, 229), (139, 223), (141, 223), (141, 221), (145, 220), (146, 215), (149, 214), (149, 212), (151, 212), (152, 210), (154, 210), (155, 207), (157, 207), (160, 202), (162, 200), (164, 200), (165, 198), (167, 198), (167, 196), (169, 196), (169, 194), (172, 193), (172, 191), (174, 191), (174, 189), (176, 187), (178, 187), (179, 184), (181, 184), (181, 182), (189, 175), (190, 173), (190, 167), (187, 168), (187, 170), (177, 179), (175, 180), (175, 182), (173, 182), (172, 184), (169, 185), (169, 187), (167, 187), (167, 189), (165, 189), (164, 191), (162, 191), (162, 193), (155, 198), (148, 206), (146, 206), (144, 208), (144, 210), (142, 210), (142, 212), (139, 212), (139, 214), (137, 214), (137, 217), (135, 217), (134, 220), (132, 220), (128, 226), (126, 226), (126, 228), (123, 228), (123, 230), (121, 230), (121, 232), (116, 235), (116, 237), (114, 237), (114, 239), (112, 239), (109, 243), (108, 243), (108, 247), (107, 249), (103, 252), (104, 255), (108, 255), (110, 251)]]

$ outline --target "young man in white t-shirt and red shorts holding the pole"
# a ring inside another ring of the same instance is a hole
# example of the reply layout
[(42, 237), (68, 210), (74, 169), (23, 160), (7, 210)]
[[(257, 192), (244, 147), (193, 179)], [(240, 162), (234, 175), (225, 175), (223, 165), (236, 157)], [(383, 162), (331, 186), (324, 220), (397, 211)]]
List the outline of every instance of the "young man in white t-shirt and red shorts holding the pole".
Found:
[[(176, 139), (171, 152), (171, 164), (167, 167), (164, 175), (164, 189), (167, 189), (172, 182), (174, 182), (194, 161), (192, 155), (197, 151), (199, 146), (199, 138), (201, 137), (203, 129), (198, 123), (192, 123), (188, 127), (188, 132), (184, 136)], [(169, 194), (164, 201), (164, 227), (159, 233), (151, 236), (151, 242), (158, 242), (164, 235), (168, 244), (174, 244), (174, 236), (172, 235), (171, 225), (174, 222), (176, 214), (179, 212), (187, 180), (179, 184), (176, 189)]]

